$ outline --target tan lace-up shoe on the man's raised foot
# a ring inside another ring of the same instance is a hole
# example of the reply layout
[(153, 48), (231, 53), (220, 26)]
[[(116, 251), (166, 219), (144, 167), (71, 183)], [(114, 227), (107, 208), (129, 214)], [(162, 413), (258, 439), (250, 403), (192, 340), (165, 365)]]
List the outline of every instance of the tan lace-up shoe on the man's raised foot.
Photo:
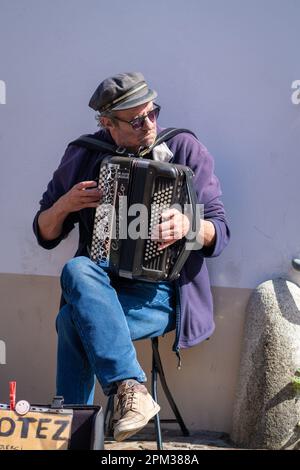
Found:
[(146, 387), (136, 380), (122, 382), (117, 397), (116, 413), (120, 411), (120, 418), (114, 426), (116, 441), (124, 441), (140, 431), (160, 410)]

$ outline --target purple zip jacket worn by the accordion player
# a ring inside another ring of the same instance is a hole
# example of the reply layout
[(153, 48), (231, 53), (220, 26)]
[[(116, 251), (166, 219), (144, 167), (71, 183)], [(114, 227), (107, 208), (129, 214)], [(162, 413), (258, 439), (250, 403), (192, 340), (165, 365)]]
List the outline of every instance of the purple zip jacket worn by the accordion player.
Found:
[[(158, 128), (158, 132), (161, 129)], [(114, 143), (110, 134), (100, 130), (94, 134), (101, 140)], [(194, 184), (198, 202), (204, 204), (204, 218), (213, 222), (216, 228), (216, 242), (213, 247), (192, 251), (185, 263), (177, 283), (177, 335), (174, 349), (188, 348), (208, 338), (214, 331), (213, 302), (206, 257), (218, 256), (229, 241), (229, 229), (225, 212), (220, 201), (221, 189), (214, 175), (214, 162), (207, 149), (191, 134), (182, 133), (167, 142), (173, 153), (172, 162), (189, 166), (195, 173)], [(69, 146), (58, 169), (48, 184), (40, 201), (33, 229), (38, 243), (52, 249), (79, 223), (79, 246), (75, 256), (88, 256), (93, 225), (93, 209), (83, 209), (69, 214), (65, 219), (61, 235), (51, 241), (43, 240), (39, 234), (37, 218), (41, 211), (48, 209), (76, 183), (92, 180), (98, 176), (95, 171), (99, 153), (84, 148)]]

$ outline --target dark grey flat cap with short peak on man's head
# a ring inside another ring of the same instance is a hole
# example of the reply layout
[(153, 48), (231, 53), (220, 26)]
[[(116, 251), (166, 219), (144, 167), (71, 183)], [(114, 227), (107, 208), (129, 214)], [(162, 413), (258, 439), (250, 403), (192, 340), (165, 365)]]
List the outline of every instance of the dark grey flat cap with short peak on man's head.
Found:
[(157, 93), (150, 90), (140, 72), (120, 73), (103, 80), (90, 99), (89, 106), (100, 113), (134, 108), (154, 100)]

